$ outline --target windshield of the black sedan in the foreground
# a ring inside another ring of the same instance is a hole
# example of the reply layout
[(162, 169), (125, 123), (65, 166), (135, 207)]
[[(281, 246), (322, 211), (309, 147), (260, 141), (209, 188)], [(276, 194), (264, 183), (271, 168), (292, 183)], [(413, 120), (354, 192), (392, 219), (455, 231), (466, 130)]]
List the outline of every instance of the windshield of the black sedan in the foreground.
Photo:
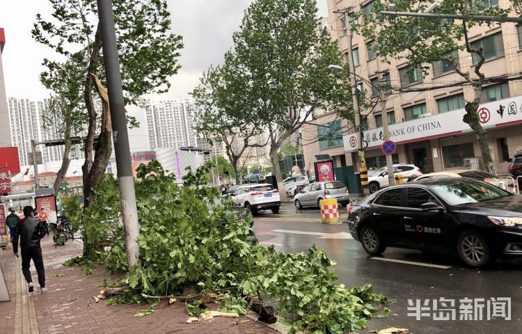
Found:
[(463, 205), (511, 196), (511, 193), (487, 182), (475, 180), (446, 180), (430, 185), (438, 196), (450, 205)]

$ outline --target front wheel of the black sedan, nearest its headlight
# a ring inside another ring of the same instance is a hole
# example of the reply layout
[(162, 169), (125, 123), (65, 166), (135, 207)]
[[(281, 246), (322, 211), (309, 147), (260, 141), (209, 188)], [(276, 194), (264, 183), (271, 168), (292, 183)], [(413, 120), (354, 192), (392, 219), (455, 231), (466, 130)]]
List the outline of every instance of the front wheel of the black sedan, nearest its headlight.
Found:
[(491, 260), (487, 241), (470, 230), (462, 232), (457, 238), (457, 252), (461, 260), (470, 267), (484, 267)]

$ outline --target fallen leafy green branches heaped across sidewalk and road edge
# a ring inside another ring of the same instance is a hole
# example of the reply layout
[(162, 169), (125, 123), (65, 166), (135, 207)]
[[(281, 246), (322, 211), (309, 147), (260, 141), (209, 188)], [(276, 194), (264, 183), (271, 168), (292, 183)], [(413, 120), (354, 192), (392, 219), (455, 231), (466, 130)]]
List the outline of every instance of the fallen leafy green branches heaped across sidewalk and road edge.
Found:
[[(140, 294), (180, 296), (191, 288), (196, 295), (225, 296), (222, 310), (244, 313), (245, 296), (269, 296), (278, 301), (278, 312), (292, 332), (310, 333), (356, 331), (367, 319), (386, 315), (387, 308), (379, 306), (386, 297), (374, 294), (370, 285), (346, 289), (335, 284), (334, 262), (317, 247), (291, 254), (260, 246), (249, 237), (251, 221), (230, 214), (237, 212), (232, 200), (221, 200), (217, 189), (205, 186), (208, 171), (208, 165), (189, 170), (183, 186), (178, 186), (157, 161), (138, 168), (139, 266), (121, 281), (132, 291), (109, 303), (142, 302)], [(113, 191), (100, 187), (97, 198), (116, 201), (112, 205), (118, 207)], [(102, 208), (98, 205), (99, 211)], [(93, 217), (106, 214), (88, 210)], [(111, 250), (97, 256), (111, 270), (125, 269), (124, 240), (118, 239), (122, 234), (113, 235), (117, 241)], [(111, 267), (115, 262), (116, 268)], [(187, 310), (197, 314), (196, 303), (187, 304)], [(152, 308), (141, 316), (150, 313)]]

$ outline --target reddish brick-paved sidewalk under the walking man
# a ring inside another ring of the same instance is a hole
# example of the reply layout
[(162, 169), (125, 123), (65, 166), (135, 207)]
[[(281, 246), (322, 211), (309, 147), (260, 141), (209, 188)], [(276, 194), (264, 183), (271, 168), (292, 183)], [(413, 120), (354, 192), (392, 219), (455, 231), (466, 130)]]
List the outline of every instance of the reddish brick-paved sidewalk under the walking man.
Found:
[[(19, 261), (13, 248), (0, 251), (0, 265), (6, 276), (10, 302), (0, 302), (0, 334), (29, 333), (278, 333), (247, 317), (216, 317), (206, 324), (187, 324), (189, 315), (183, 303), (161, 303), (152, 315), (134, 317), (134, 313), (148, 305), (106, 306), (103, 300), (96, 303), (93, 296), (100, 294), (100, 282), (111, 276), (102, 268), (93, 269), (92, 276), (85, 276), (82, 267), (63, 267), (70, 257), (81, 254), (79, 241), (68, 241), (55, 249), (51, 237), (42, 239), (46, 286), (48, 292), (40, 293), (38, 279), (31, 262), (35, 292), (27, 294)], [(63, 274), (62, 277), (56, 277)], [(17, 289), (18, 280), (18, 289)], [(33, 306), (34, 305), (34, 306)], [(32, 308), (32, 310), (31, 310)], [(38, 328), (38, 329), (37, 329)]]

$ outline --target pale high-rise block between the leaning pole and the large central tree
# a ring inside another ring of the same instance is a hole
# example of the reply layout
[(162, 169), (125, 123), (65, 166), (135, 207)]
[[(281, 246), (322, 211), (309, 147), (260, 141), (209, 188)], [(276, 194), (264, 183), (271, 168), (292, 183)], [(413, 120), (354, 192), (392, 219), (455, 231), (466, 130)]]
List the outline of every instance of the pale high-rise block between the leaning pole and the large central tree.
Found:
[(196, 147), (192, 128), (193, 100), (179, 99), (151, 102), (145, 106), (150, 148)]

